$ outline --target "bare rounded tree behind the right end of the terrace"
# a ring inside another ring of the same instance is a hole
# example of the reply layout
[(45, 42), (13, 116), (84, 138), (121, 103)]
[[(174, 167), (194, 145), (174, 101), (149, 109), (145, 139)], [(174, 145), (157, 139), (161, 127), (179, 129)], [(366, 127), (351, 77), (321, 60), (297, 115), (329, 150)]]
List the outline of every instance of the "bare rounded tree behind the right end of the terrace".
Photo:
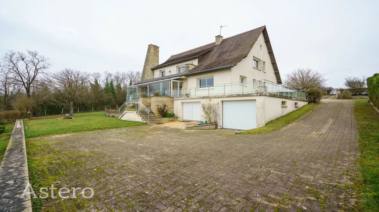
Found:
[(286, 75), (284, 83), (290, 88), (305, 91), (309, 88), (321, 88), (325, 81), (324, 74), (313, 69), (298, 68)]

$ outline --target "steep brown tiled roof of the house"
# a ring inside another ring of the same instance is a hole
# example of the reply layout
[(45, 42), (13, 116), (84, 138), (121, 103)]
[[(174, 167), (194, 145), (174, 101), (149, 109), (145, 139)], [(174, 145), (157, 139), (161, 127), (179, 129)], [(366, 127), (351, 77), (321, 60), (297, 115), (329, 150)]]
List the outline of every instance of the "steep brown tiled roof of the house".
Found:
[[(185, 75), (193, 75), (196, 73), (203, 73), (207, 71), (215, 71), (233, 67), (242, 59), (248, 56), (251, 48), (261, 33), (264, 36), (268, 48), (268, 54), (270, 55), (271, 64), (274, 68), (276, 81), (277, 83), (281, 84), (280, 74), (276, 65), (266, 26), (261, 26), (256, 29), (243, 32), (241, 34), (225, 38), (218, 45), (213, 42), (188, 51), (181, 52), (177, 55), (173, 55), (164, 63), (154, 67), (153, 70), (192, 58), (198, 58), (199, 56), (202, 57), (201, 60), (199, 58), (198, 65), (186, 72)], [(155, 78), (154, 81), (156, 80), (160, 80), (160, 78)], [(138, 82), (137, 84), (145, 83), (145, 81)]]

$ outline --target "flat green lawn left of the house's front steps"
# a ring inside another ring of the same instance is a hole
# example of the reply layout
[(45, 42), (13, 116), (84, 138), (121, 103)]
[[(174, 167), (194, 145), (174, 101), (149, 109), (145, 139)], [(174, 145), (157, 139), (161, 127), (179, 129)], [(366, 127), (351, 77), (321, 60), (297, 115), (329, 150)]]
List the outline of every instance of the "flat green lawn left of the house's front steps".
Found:
[(139, 125), (144, 123), (106, 117), (105, 112), (75, 114), (74, 119), (59, 119), (53, 116), (50, 119), (24, 121), (25, 138)]

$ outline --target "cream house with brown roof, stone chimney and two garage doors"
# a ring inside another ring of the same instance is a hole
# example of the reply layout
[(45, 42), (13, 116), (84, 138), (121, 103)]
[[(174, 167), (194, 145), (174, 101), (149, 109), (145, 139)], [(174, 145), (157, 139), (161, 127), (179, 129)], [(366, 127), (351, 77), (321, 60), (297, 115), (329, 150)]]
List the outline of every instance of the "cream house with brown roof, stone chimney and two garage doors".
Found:
[(210, 100), (218, 102), (219, 127), (252, 129), (307, 104), (305, 93), (281, 83), (266, 26), (217, 35), (161, 64), (159, 47), (150, 44), (141, 81), (128, 87), (120, 118), (156, 122), (165, 103), (179, 120), (204, 121), (201, 105)]

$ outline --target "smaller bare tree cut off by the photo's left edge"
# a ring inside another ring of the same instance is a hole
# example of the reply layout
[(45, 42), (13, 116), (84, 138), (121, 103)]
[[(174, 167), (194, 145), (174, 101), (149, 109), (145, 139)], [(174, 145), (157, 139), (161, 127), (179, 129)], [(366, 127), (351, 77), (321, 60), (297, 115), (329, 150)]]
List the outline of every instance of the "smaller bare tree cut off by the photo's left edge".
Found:
[(0, 95), (3, 98), (3, 109), (9, 110), (11, 101), (20, 92), (19, 86), (11, 77), (10, 69), (0, 68)]

